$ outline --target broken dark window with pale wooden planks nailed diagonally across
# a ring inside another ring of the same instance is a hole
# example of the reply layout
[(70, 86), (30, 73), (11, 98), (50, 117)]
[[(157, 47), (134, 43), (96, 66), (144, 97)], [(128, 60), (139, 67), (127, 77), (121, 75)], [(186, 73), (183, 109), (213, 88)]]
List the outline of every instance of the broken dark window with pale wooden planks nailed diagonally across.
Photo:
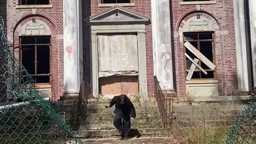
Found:
[[(212, 32), (184, 33), (186, 80), (216, 78)], [(194, 50), (193, 50), (194, 49)]]

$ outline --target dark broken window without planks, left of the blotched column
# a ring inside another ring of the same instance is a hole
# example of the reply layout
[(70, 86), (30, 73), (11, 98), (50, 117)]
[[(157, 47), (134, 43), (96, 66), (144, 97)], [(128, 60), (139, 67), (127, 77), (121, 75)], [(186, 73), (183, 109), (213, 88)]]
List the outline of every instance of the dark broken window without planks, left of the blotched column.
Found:
[(36, 83), (50, 83), (50, 36), (20, 37), (20, 60)]

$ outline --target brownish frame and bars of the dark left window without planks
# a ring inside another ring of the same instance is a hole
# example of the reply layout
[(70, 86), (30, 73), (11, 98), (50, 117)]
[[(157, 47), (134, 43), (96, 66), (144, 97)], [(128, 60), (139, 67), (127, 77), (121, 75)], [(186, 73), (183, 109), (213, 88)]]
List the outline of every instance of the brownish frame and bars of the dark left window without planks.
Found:
[[(21, 44), (21, 40), (22, 38), (26, 38), (26, 37), (34, 37), (34, 38), (38, 38), (38, 37), (48, 37), (50, 38), (50, 43), (49, 44)], [(35, 35), (35, 36), (20, 36), (19, 37), (19, 60), (20, 60), (20, 63), (22, 64), (22, 45), (23, 46), (35, 46), (35, 61), (37, 60), (37, 46), (49, 46), (49, 74), (36, 74), (37, 73), (37, 63), (35, 63), (35, 74), (30, 74), (30, 76), (49, 76), (49, 82), (48, 83), (36, 83), (36, 80), (35, 80), (35, 84), (36, 85), (42, 85), (42, 84), (51, 84), (52, 83), (52, 36), (40, 36), (40, 35)]]

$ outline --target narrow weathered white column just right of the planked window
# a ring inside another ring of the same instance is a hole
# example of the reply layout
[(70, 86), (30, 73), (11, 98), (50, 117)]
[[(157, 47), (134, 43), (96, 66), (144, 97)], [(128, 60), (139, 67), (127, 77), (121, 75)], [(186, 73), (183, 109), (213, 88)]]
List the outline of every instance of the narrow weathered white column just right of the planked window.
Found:
[(240, 92), (252, 88), (250, 72), (250, 46), (248, 34), (248, 20), (246, 19), (246, 1), (234, 0), (234, 22), (236, 34), (236, 62), (238, 74), (238, 88)]

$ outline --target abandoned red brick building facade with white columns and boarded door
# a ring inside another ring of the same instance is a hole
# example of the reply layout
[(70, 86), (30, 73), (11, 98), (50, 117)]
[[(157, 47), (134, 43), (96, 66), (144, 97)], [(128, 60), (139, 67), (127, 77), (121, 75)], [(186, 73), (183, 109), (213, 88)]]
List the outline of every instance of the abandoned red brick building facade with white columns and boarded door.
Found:
[[(5, 0), (14, 55), (52, 100), (256, 87), (255, 0)], [(154, 80), (155, 76), (155, 80)]]

